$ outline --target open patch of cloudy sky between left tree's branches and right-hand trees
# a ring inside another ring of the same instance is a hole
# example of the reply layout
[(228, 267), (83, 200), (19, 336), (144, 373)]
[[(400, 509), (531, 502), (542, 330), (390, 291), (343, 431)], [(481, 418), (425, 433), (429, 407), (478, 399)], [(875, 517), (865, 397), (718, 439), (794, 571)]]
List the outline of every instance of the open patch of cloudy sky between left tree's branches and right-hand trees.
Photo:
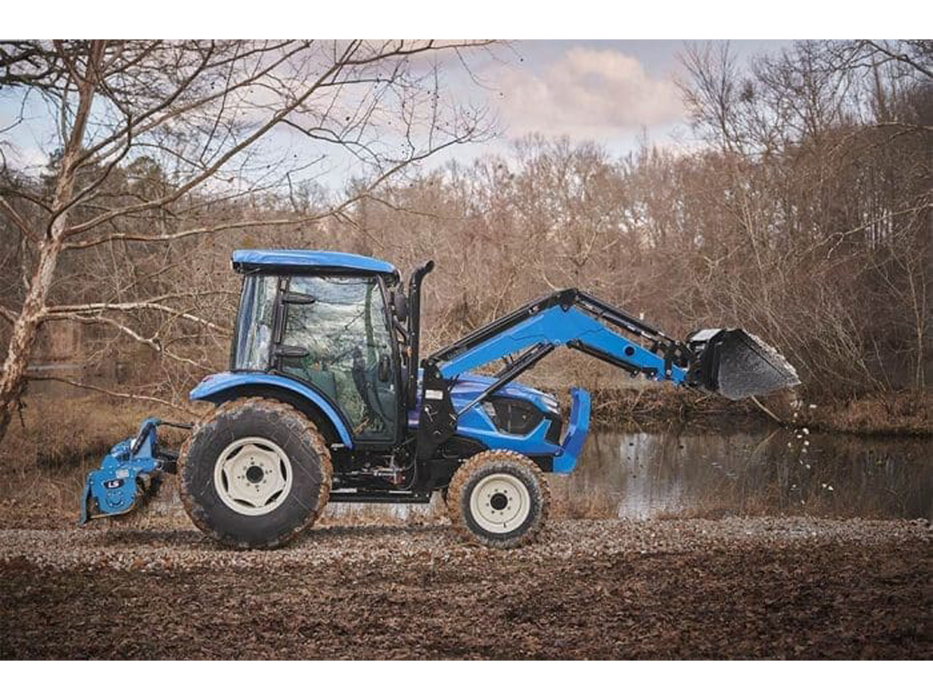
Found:
[[(731, 41), (740, 60), (790, 46), (790, 41)], [(468, 160), (501, 150), (525, 133), (593, 140), (616, 155), (637, 144), (642, 131), (653, 143), (689, 139), (675, 77), (682, 71), (682, 41), (521, 41), (500, 52), (505, 63), (486, 61), (477, 74), (487, 89), (474, 89), (497, 110), (502, 137), (483, 146), (460, 147), (447, 158)]]

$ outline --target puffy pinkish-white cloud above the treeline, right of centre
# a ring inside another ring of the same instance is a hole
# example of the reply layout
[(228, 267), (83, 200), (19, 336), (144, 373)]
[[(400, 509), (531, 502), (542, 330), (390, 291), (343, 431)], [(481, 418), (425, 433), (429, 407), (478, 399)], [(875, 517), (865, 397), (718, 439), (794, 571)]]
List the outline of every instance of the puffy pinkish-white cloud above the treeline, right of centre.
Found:
[(538, 73), (507, 66), (494, 80), (510, 136), (612, 138), (684, 116), (673, 80), (649, 76), (641, 62), (616, 49), (575, 47)]

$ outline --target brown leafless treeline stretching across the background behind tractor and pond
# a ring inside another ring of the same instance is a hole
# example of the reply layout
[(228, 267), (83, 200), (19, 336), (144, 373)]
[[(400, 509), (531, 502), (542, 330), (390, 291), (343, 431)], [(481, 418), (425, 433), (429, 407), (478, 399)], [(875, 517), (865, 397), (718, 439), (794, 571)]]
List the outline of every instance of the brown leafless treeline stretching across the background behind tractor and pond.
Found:
[[(197, 235), (64, 250), (49, 295), (59, 310), (43, 326), (81, 324), (83, 360), (126, 368), (123, 390), (183, 402), (227, 362), (239, 282), (230, 251), (321, 247), (388, 259), (404, 273), (435, 259), (427, 349), (550, 289), (580, 287), (675, 336), (748, 329), (798, 367), (807, 397), (926, 390), (933, 49), (891, 48), (808, 42), (747, 67), (728, 49), (687, 49), (694, 138), (644, 143), (621, 159), (598, 144), (532, 134), (501, 156), (409, 171), (359, 198), (341, 193), (349, 204), (337, 211), (333, 196), (308, 188), (209, 206), (186, 195), (188, 209), (122, 217), (115, 230), (204, 230)], [(122, 206), (173, 187), (171, 173), (146, 159), (83, 176), (107, 186), (76, 220), (108, 196)], [(303, 221), (276, 225), (282, 217)], [(260, 219), (268, 225), (213, 231)], [(16, 308), (22, 253), (13, 237), (0, 255), (0, 298)], [(102, 297), (105, 308), (89, 308)], [(551, 385), (620, 381), (568, 353), (536, 371)]]

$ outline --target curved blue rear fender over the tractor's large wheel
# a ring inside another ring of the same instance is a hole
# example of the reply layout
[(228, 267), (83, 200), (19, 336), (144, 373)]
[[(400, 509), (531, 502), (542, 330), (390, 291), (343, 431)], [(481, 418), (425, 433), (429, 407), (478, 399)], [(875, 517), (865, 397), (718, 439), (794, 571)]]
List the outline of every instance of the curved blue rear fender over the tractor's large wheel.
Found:
[[(303, 403), (310, 403), (330, 424), (319, 427), (337, 436), (348, 448), (353, 447), (353, 437), (346, 421), (323, 394), (314, 391), (308, 385), (278, 374), (232, 371), (212, 374), (191, 389), (188, 398), (192, 401), (211, 401), (217, 404), (234, 397), (269, 396), (270, 390), (274, 392), (276, 398), (281, 397), (296, 405), (297, 408), (301, 408)], [(328, 431), (327, 427), (331, 430)]]

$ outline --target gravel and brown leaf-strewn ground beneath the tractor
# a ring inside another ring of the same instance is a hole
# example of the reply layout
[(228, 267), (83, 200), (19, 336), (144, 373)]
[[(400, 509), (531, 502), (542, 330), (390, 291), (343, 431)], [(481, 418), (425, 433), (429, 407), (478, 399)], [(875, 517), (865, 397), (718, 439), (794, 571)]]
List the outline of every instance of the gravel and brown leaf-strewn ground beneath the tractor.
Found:
[(926, 521), (0, 530), (3, 658), (933, 658)]

